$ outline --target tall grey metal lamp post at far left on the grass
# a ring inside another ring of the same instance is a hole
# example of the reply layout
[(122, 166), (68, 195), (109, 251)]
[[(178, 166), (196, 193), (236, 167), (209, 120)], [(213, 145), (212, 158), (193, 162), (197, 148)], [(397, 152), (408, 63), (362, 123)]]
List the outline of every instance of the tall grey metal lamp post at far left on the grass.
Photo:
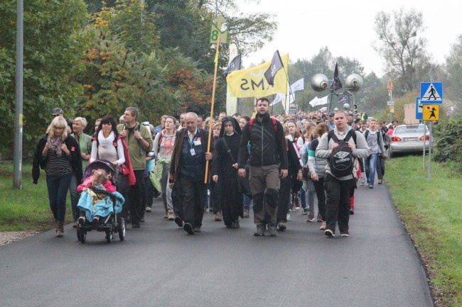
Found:
[(16, 111), (14, 123), (14, 178), (13, 187), (21, 189), (23, 162), (23, 0), (17, 0), (16, 11)]

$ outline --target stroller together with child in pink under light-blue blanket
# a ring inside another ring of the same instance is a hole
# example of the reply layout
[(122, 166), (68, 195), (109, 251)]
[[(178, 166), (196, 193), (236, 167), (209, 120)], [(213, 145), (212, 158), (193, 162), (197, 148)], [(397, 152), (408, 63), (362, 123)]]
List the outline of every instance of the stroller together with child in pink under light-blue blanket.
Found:
[(117, 215), (122, 212), (124, 196), (116, 191), (117, 170), (106, 160), (95, 160), (88, 164), (83, 182), (77, 187), (81, 192), (77, 207), (80, 218), (77, 221), (77, 238), (83, 243), (87, 231), (105, 231), (111, 242), (114, 232), (124, 240), (125, 221)]

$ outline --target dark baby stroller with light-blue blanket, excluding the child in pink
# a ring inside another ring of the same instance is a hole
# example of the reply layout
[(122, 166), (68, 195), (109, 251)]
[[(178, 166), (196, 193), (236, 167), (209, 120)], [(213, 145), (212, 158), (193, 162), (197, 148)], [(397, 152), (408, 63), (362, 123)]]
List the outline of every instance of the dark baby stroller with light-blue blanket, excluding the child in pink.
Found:
[[(96, 160), (88, 164), (88, 166), (85, 168), (85, 172), (83, 173), (82, 181), (85, 181), (85, 179), (92, 176), (92, 171), (97, 169), (104, 169), (107, 174), (110, 174), (111, 179), (109, 180), (114, 186), (116, 185), (117, 168), (114, 167), (114, 164), (107, 160)], [(114, 233), (119, 233), (119, 239), (123, 241), (125, 238), (125, 221), (124, 218), (118, 216), (118, 213), (121, 213), (122, 211), (122, 205), (124, 203), (123, 197), (117, 192), (110, 193), (109, 191), (101, 190), (95, 191), (95, 194), (97, 195), (97, 199), (100, 199), (99, 208), (95, 206), (95, 200), (92, 201), (92, 197), (86, 192), (82, 192), (80, 195), (80, 200), (77, 207), (81, 209), (81, 216), (85, 214), (88, 215), (91, 213), (89, 213), (88, 210), (82, 211), (82, 208), (85, 208), (85, 206), (89, 205), (91, 208), (93, 203), (93, 208), (98, 208), (98, 213), (101, 214), (101, 218), (99, 221), (97, 221), (97, 223), (95, 223), (95, 220), (89, 218), (79, 218), (77, 222), (77, 239), (80, 242), (85, 243), (85, 240), (87, 239), (87, 232), (97, 230), (104, 231), (106, 233), (106, 240), (108, 243), (112, 242)], [(120, 197), (122, 197), (122, 199), (120, 199)], [(90, 203), (85, 205), (86, 201), (90, 201)]]

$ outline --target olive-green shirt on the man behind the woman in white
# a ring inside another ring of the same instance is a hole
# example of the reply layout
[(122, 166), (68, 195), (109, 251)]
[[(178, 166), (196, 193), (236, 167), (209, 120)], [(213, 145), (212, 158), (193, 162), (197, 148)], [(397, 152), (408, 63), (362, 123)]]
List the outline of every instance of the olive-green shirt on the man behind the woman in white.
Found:
[[(117, 125), (117, 131), (121, 133), (122, 130), (124, 130), (124, 127), (126, 127), (125, 124)], [(135, 130), (139, 130), (141, 137), (149, 143), (149, 148), (147, 151), (144, 150), (144, 148), (141, 146), (139, 140), (136, 140), (134, 137)], [(129, 147), (131, 168), (134, 171), (144, 170), (146, 168), (146, 152), (150, 152), (152, 150), (152, 139), (149, 129), (146, 128), (145, 125), (141, 125), (140, 123), (136, 122), (134, 130), (131, 131), (131, 133), (129, 133), (127, 138), (124, 138), (124, 140)]]

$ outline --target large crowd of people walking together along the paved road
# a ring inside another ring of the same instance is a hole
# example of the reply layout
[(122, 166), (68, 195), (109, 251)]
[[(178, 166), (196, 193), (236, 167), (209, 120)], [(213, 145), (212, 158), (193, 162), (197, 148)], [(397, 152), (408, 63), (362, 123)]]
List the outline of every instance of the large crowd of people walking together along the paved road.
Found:
[(129, 107), (119, 123), (98, 118), (89, 134), (84, 117), (67, 121), (60, 108), (51, 114), (36, 146), (33, 182), (44, 169), (57, 237), (64, 233), (68, 192), (73, 226), (84, 218), (77, 186), (96, 160), (117, 169), (122, 216), (132, 228), (141, 227), (160, 194), (163, 217), (190, 235), (201, 232), (205, 211), (227, 228), (240, 228), (252, 208), (255, 236), (276, 236), (300, 211), (328, 237), (337, 227), (348, 237), (357, 182), (373, 189), (377, 171), (382, 184), (390, 144), (385, 122), (345, 111), (272, 117), (266, 98), (257, 100), (252, 118), (222, 112), (204, 119), (189, 112), (178, 119), (163, 115), (156, 127), (140, 123), (139, 110)]

